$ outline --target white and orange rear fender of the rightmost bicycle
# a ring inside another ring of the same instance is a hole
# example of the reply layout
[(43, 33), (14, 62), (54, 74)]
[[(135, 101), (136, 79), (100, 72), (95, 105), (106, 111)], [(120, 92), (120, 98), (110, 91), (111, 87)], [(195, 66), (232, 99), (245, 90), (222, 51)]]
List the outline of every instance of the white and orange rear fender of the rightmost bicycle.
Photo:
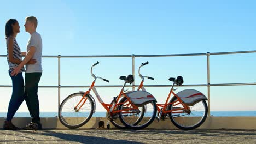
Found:
[(195, 89), (185, 89), (176, 94), (185, 104), (194, 104), (199, 100), (208, 100), (207, 97)]

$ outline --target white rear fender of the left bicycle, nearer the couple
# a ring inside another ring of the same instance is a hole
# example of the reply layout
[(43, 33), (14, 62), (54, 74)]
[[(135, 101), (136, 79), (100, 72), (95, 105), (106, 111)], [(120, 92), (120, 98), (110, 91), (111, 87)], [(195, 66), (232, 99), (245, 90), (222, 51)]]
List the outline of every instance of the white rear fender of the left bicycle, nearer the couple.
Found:
[(148, 103), (149, 101), (156, 101), (155, 97), (146, 91), (133, 91), (126, 93), (126, 95), (131, 98), (132, 103), (136, 105)]

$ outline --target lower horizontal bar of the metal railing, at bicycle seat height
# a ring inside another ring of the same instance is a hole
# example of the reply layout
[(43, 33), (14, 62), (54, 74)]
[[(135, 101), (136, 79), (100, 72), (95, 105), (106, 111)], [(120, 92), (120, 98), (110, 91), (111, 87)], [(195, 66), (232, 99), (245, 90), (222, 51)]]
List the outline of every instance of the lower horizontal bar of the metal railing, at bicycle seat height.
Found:
[[(218, 83), (218, 84), (210, 84), (210, 86), (249, 86), (249, 85), (256, 85), (256, 82), (251, 83)], [(172, 85), (144, 85), (144, 87), (171, 87)], [(207, 84), (194, 84), (194, 85), (182, 85), (180, 87), (203, 87), (207, 86)], [(0, 85), (0, 87), (11, 87), (10, 85)], [(57, 88), (59, 86), (39, 86), (42, 88)], [(79, 87), (90, 87), (88, 86), (60, 86), (62, 88), (79, 88)], [(123, 87), (123, 85), (99, 85), (95, 87)], [(132, 86), (126, 86), (126, 87), (132, 87)], [(138, 87), (138, 85), (135, 85), (135, 87)], [(176, 85), (177, 87), (177, 85)], [(179, 86), (178, 86), (179, 87)]]

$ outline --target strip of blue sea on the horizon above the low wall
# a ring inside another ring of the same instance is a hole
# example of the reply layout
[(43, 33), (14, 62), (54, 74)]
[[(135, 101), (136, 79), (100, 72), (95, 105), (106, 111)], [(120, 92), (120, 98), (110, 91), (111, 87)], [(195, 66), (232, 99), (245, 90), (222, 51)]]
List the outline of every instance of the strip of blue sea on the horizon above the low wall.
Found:
[[(0, 112), (0, 117), (6, 117), (7, 112)], [(58, 112), (40, 112), (40, 117), (57, 117)], [(211, 111), (214, 117), (256, 117), (256, 111)], [(16, 112), (14, 117), (30, 117), (29, 112)], [(92, 117), (106, 117), (106, 112), (95, 112)]]

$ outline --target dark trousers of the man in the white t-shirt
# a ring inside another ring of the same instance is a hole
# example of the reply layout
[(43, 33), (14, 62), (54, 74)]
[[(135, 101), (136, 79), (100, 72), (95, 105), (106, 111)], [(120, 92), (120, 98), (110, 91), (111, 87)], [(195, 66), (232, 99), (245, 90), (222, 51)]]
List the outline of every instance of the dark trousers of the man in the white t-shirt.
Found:
[(25, 74), (25, 100), (32, 122), (40, 123), (39, 117), (39, 101), (38, 101), (38, 83), (42, 73), (26, 73)]

